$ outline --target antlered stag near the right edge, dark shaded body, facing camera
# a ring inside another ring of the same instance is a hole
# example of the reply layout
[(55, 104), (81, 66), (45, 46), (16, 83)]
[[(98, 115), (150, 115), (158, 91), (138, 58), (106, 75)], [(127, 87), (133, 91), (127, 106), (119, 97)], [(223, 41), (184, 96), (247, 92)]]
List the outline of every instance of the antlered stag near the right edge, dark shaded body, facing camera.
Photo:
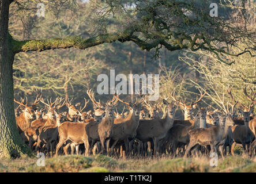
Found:
[[(228, 95), (232, 98), (232, 100), (234, 102), (236, 102), (235, 98), (233, 97), (233, 95), (231, 93), (231, 89), (232, 89), (232, 86), (227, 87)], [(244, 94), (247, 96), (246, 87), (244, 88), (243, 91), (244, 91)], [(254, 97), (255, 97), (255, 95), (254, 95)], [(244, 125), (235, 125), (234, 127), (231, 128), (232, 132), (233, 132), (233, 137), (234, 137), (234, 143), (232, 144), (232, 147), (231, 147), (232, 155), (235, 155), (234, 148), (235, 148), (236, 143), (242, 144), (243, 149), (246, 152), (246, 154), (249, 154), (250, 144), (254, 140), (254, 134), (251, 131), (251, 129), (249, 128), (250, 114), (253, 113), (254, 103), (251, 102), (251, 104), (249, 106), (245, 106), (240, 102), (238, 102), (238, 104), (243, 109), (243, 110), (239, 109), (239, 112), (241, 114), (243, 114)]]

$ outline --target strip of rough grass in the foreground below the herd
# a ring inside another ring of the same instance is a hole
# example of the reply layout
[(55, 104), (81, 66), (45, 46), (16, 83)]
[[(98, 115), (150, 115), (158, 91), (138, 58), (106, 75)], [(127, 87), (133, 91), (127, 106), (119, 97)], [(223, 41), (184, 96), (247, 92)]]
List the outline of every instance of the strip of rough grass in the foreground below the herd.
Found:
[(0, 160), (0, 172), (255, 172), (256, 158), (249, 156), (229, 156), (219, 158), (217, 167), (211, 167), (211, 158), (162, 157), (117, 159), (104, 155), (58, 156), (45, 160), (45, 166), (37, 166), (37, 158)]

